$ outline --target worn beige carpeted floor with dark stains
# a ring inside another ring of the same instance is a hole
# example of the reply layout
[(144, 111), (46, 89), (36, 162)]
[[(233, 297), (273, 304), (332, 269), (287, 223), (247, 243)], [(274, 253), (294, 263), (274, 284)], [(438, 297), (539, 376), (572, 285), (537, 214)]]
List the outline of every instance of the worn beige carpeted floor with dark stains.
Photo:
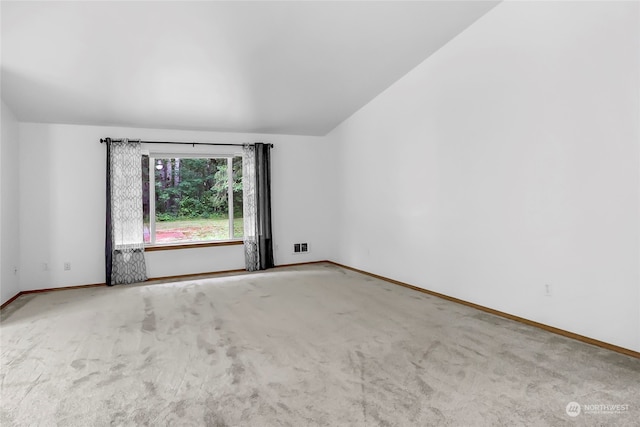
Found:
[(2, 426), (640, 425), (640, 360), (330, 264), (25, 295), (0, 332)]

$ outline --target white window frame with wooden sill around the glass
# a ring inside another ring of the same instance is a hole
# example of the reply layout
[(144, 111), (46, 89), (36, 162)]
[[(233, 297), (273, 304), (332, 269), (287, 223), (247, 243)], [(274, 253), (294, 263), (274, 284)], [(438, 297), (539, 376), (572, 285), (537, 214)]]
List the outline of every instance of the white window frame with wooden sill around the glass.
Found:
[[(234, 230), (234, 210), (233, 210), (233, 159), (240, 157), (244, 162), (242, 152), (220, 153), (220, 152), (166, 152), (154, 150), (142, 150), (143, 156), (149, 157), (149, 243), (144, 243), (145, 250), (158, 251), (170, 249), (188, 249), (195, 247), (210, 246), (230, 246), (240, 245), (244, 242), (244, 236), (235, 236)], [(226, 159), (227, 160), (227, 203), (229, 216), (229, 238), (220, 240), (197, 240), (186, 242), (156, 243), (156, 179), (155, 165), (158, 159)], [(244, 178), (244, 177), (243, 177)]]

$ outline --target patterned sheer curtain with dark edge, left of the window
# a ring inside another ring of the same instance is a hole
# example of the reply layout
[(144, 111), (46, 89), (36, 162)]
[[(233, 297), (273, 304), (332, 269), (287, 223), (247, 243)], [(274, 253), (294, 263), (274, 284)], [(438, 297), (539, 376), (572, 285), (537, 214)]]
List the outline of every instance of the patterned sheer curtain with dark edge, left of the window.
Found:
[(141, 144), (107, 139), (106, 283), (147, 280), (142, 228)]

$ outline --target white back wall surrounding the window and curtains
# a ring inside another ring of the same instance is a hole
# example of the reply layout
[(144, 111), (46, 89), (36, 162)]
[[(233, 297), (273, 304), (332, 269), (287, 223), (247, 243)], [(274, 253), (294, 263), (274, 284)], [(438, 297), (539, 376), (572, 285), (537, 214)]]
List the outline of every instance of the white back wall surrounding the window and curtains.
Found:
[[(333, 253), (334, 157), (322, 138), (20, 123), (22, 290), (104, 282), (105, 147), (100, 138), (272, 142), (276, 264)], [(293, 254), (305, 241), (308, 254)], [(149, 277), (244, 268), (242, 246), (148, 252)], [(71, 271), (64, 271), (64, 262)], [(44, 263), (49, 269), (44, 270)]]

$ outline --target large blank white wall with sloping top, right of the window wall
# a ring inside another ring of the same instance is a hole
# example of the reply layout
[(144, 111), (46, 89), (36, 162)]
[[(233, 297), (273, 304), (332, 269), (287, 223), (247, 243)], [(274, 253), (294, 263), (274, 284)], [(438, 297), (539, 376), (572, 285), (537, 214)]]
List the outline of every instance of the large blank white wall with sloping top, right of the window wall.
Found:
[(638, 17), (502, 3), (342, 123), (338, 261), (639, 351)]

